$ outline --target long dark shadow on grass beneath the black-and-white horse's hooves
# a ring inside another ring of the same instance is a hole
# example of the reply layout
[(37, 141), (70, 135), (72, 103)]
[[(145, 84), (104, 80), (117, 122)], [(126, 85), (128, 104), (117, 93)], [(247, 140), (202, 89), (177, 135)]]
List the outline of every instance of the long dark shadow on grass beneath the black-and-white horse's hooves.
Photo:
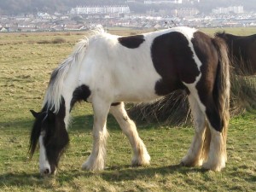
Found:
[(12, 186), (41, 186), (45, 189), (52, 188), (52, 183), (69, 183), (77, 177), (102, 177), (107, 182), (119, 182), (135, 180), (143, 177), (154, 177), (155, 174), (166, 176), (178, 172), (186, 175), (188, 172), (207, 172), (199, 167), (185, 167), (180, 165), (160, 166), (160, 167), (131, 167), (131, 166), (112, 166), (102, 172), (87, 172), (82, 170), (63, 170), (55, 176), (42, 177), (39, 173), (26, 172), (7, 172), (0, 175), (0, 188)]

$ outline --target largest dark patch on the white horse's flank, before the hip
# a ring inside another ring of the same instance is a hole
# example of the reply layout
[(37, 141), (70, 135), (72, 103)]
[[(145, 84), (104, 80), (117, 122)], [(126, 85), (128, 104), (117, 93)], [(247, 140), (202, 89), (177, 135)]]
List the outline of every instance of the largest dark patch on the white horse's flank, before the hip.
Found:
[(200, 71), (189, 47), (189, 40), (181, 32), (170, 32), (154, 38), (151, 46), (154, 68), (162, 77), (155, 84), (155, 93), (167, 95), (195, 82)]

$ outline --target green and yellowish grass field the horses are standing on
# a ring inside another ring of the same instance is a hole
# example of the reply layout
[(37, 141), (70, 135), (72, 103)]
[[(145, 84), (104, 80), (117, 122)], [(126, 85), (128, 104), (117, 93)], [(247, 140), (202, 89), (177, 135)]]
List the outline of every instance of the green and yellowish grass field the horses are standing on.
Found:
[[(226, 31), (256, 33), (255, 28)], [(110, 32), (128, 35), (138, 31)], [(194, 135), (191, 125), (137, 125), (152, 160), (150, 166), (131, 167), (131, 147), (112, 116), (108, 117), (107, 169), (85, 172), (80, 166), (90, 154), (92, 111), (90, 104), (82, 103), (73, 110), (71, 142), (57, 175), (41, 177), (38, 153), (32, 160), (27, 154), (33, 123), (29, 109), (41, 109), (50, 73), (84, 35), (0, 34), (0, 191), (256, 191), (255, 110), (230, 120), (229, 160), (223, 172), (177, 166)], [(63, 40), (61, 44), (57, 39)]]

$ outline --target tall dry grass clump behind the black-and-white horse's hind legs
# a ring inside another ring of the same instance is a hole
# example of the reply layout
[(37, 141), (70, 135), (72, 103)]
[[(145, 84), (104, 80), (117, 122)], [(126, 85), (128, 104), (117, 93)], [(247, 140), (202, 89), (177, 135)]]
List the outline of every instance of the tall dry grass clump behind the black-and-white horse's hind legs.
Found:
[[(231, 73), (230, 82), (231, 116), (256, 108), (256, 76)], [(165, 125), (181, 125), (191, 122), (187, 96), (180, 90), (155, 102), (131, 106), (129, 113), (138, 121), (158, 122)]]

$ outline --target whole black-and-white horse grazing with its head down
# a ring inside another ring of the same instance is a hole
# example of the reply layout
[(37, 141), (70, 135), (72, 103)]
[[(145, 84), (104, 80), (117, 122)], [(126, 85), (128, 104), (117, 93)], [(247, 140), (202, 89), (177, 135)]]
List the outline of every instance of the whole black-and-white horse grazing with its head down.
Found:
[(104, 169), (108, 112), (131, 143), (132, 165), (148, 165), (147, 148), (124, 102), (148, 102), (182, 89), (189, 95), (195, 137), (181, 164), (220, 171), (227, 160), (229, 66), (224, 42), (193, 28), (120, 37), (98, 27), (51, 74), (42, 110), (31, 111), (31, 156), (39, 143), (41, 174), (55, 173), (69, 142), (69, 114), (75, 102), (85, 101), (94, 112), (93, 147), (82, 169)]

